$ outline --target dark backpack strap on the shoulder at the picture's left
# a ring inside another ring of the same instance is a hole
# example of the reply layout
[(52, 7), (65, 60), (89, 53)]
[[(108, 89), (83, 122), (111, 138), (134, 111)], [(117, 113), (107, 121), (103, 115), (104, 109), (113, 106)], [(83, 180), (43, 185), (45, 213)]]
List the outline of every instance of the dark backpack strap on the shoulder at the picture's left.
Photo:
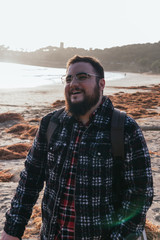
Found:
[(65, 108), (61, 108), (61, 109), (57, 110), (57, 112), (55, 112), (55, 114), (52, 115), (52, 117), (49, 121), (47, 133), (46, 133), (47, 144), (49, 144), (50, 139), (51, 139), (56, 127), (58, 126), (59, 120), (64, 112), (64, 109)]

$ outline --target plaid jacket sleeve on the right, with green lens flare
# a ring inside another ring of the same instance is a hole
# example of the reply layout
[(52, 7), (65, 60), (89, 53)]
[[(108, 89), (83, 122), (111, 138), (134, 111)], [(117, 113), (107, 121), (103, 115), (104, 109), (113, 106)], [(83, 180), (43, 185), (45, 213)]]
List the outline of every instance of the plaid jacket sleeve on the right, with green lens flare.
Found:
[(125, 126), (125, 160), (122, 163), (122, 205), (111, 239), (137, 239), (141, 235), (146, 213), (153, 200), (153, 178), (149, 151), (137, 123), (127, 117)]

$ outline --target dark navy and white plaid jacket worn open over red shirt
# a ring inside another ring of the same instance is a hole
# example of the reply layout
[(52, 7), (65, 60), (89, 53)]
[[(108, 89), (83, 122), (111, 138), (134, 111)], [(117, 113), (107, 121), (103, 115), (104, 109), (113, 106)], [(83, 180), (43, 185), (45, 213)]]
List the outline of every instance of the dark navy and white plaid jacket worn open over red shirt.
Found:
[[(134, 239), (144, 228), (145, 217), (153, 199), (153, 180), (148, 149), (136, 122), (125, 120), (125, 160), (121, 209), (116, 212), (113, 192), (114, 161), (110, 127), (113, 105), (106, 98), (83, 133), (75, 186), (75, 239)], [(53, 113), (52, 113), (53, 114)], [(32, 207), (45, 184), (42, 200), (42, 240), (53, 240), (56, 221), (66, 187), (77, 121), (64, 112), (49, 146), (46, 130), (52, 114), (45, 116), (27, 156), (25, 169), (6, 214), (5, 231), (21, 237)], [(130, 237), (130, 238), (129, 238)]]

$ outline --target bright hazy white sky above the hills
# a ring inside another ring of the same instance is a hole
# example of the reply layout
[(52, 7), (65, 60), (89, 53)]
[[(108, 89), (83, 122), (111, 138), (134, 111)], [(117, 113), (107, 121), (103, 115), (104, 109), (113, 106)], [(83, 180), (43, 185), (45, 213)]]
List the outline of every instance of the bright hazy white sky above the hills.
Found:
[(0, 45), (110, 48), (160, 41), (160, 0), (0, 0)]

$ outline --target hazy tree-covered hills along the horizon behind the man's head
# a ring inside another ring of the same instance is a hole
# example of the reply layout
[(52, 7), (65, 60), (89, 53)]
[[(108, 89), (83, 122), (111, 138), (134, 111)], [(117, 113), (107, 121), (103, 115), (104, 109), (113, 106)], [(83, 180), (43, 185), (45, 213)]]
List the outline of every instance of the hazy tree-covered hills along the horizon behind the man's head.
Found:
[(33, 52), (20, 52), (0, 46), (0, 61), (46, 67), (65, 67), (67, 60), (75, 54), (97, 57), (106, 71), (160, 73), (160, 41), (103, 50), (48, 46)]

